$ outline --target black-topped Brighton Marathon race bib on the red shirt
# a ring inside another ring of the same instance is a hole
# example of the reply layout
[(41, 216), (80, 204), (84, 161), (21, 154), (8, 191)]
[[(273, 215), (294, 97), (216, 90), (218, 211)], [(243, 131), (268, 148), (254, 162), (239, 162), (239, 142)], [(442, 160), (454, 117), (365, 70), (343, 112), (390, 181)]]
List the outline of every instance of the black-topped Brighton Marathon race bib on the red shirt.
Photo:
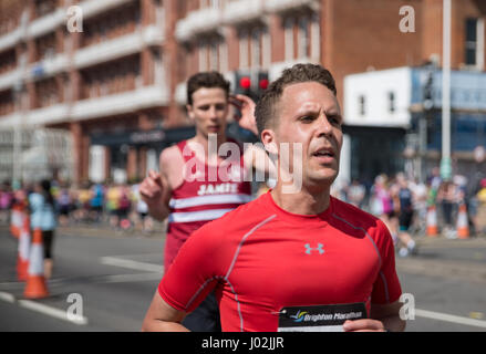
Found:
[(347, 320), (366, 319), (364, 302), (283, 308), (278, 332), (344, 332)]

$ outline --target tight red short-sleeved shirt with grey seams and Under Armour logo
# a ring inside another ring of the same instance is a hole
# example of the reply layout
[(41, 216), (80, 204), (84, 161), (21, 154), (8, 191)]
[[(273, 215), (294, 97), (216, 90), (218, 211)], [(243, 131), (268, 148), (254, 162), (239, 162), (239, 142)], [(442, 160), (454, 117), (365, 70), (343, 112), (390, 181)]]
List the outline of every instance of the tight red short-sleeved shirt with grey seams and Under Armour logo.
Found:
[(320, 215), (290, 214), (271, 194), (205, 225), (158, 285), (190, 312), (213, 290), (224, 331), (277, 331), (287, 306), (395, 302), (393, 241), (375, 217), (331, 197)]

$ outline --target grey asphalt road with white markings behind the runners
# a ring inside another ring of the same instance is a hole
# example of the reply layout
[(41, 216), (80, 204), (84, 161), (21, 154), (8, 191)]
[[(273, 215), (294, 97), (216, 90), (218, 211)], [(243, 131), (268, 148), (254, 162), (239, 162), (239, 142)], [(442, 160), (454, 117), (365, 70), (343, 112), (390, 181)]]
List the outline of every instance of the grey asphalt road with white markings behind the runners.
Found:
[[(397, 259), (402, 290), (415, 304), (406, 330), (485, 332), (486, 239), (416, 239), (418, 256)], [(163, 247), (162, 235), (60, 229), (50, 296), (31, 301), (17, 281), (17, 240), (0, 227), (0, 331), (139, 331)], [(74, 304), (76, 319), (66, 315)]]

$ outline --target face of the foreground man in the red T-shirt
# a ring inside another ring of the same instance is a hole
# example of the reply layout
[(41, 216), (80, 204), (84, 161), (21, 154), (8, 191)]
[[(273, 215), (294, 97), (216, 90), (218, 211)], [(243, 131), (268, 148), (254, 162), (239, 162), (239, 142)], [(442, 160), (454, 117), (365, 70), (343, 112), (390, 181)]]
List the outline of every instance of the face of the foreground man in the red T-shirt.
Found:
[[(300, 144), (302, 158), (290, 156), (290, 171), (301, 168), (304, 186), (331, 185), (339, 173), (342, 116), (334, 94), (317, 82), (291, 84), (278, 103), (275, 143)], [(300, 164), (300, 166), (294, 166)]]

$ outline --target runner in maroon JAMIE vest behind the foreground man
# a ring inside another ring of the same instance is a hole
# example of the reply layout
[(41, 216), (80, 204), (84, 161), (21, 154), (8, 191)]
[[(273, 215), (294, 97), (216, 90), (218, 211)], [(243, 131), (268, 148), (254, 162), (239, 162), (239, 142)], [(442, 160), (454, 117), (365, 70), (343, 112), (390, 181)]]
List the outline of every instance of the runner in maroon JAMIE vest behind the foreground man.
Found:
[[(251, 200), (251, 186), (246, 174), (263, 150), (240, 145), (226, 136), (229, 103), (241, 111), (239, 125), (257, 134), (255, 103), (247, 96), (229, 96), (229, 82), (217, 72), (198, 73), (187, 83), (187, 112), (196, 126), (196, 136), (164, 149), (159, 158), (161, 174), (149, 171), (139, 192), (148, 212), (163, 221), (168, 218), (164, 250), (167, 271), (190, 233), (236, 207)], [(214, 148), (210, 138), (214, 137)], [(237, 147), (238, 156), (230, 168), (218, 150), (225, 143)], [(229, 171), (229, 173), (225, 173)], [(214, 295), (185, 319), (193, 331), (220, 331), (219, 311)]]

